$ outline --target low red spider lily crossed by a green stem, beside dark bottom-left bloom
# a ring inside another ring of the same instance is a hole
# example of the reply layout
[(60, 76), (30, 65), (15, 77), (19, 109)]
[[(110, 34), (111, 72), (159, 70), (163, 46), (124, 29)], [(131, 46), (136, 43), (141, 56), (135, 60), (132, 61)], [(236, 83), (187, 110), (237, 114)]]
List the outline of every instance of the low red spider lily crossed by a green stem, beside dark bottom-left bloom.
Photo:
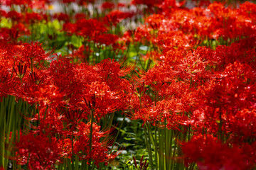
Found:
[[(96, 166), (101, 162), (108, 164), (112, 159), (117, 157), (117, 153), (110, 153), (108, 146), (112, 145), (112, 138), (109, 137), (110, 131), (100, 130), (100, 126), (92, 124), (92, 145), (90, 147), (90, 122), (83, 122), (77, 125), (73, 132), (73, 154), (78, 155), (80, 160), (93, 161)], [(70, 136), (71, 132), (66, 135)], [(58, 141), (58, 148), (63, 151), (63, 156), (70, 158), (72, 156), (72, 140), (64, 135)]]

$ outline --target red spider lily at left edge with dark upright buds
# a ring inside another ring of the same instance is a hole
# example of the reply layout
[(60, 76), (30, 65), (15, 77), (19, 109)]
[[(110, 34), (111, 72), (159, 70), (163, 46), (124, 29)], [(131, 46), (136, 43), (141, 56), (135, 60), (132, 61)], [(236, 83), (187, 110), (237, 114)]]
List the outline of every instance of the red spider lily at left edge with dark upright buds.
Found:
[[(28, 102), (33, 103), (34, 98), (30, 98), (31, 93), (35, 89), (38, 89), (38, 86), (35, 85), (40, 84), (43, 77), (45, 77), (45, 74), (41, 74), (40, 76), (38, 75), (38, 73), (41, 72), (40, 69), (43, 67), (40, 62), (48, 59), (48, 54), (46, 54), (38, 43), (21, 43), (19, 45), (3, 44), (0, 49), (0, 60), (3, 64), (3, 69), (6, 69), (6, 74), (3, 73), (3, 76), (6, 78), (9, 77), (10, 80), (5, 80), (6, 85), (9, 84), (8, 93), (14, 96), (26, 98)], [(21, 79), (26, 83), (21, 84)]]

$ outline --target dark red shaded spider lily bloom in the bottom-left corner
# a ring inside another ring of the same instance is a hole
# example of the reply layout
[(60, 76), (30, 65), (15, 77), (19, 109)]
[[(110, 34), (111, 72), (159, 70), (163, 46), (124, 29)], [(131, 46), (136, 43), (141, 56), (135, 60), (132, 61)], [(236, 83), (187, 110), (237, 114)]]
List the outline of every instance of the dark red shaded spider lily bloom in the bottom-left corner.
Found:
[(22, 135), (16, 142), (16, 157), (18, 164), (28, 163), (28, 169), (54, 169), (60, 162), (61, 152), (55, 137), (46, 135)]

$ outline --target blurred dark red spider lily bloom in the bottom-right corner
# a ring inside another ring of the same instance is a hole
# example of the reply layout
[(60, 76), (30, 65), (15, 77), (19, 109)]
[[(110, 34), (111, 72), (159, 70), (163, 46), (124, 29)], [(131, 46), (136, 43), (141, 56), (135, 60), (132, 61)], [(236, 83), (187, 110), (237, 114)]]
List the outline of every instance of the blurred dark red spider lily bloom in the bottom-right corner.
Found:
[(194, 136), (191, 141), (182, 143), (185, 161), (196, 162), (198, 169), (251, 169), (255, 161), (250, 158), (250, 152), (243, 148), (221, 144), (212, 135)]

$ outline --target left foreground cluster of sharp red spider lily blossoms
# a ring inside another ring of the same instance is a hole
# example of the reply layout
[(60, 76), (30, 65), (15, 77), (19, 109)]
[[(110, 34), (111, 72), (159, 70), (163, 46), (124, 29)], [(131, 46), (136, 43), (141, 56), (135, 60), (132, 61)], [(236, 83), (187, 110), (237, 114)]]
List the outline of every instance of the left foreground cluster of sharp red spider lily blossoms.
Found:
[[(117, 156), (108, 154), (111, 141), (100, 142), (110, 132), (100, 130), (95, 123), (89, 154), (90, 122), (85, 124), (81, 120), (88, 120), (92, 110), (99, 121), (107, 113), (127, 107), (124, 93), (131, 88), (129, 81), (121, 77), (129, 73), (129, 68), (120, 69), (114, 60), (103, 60), (95, 66), (72, 64), (65, 57), (46, 53), (39, 43), (1, 42), (0, 46), (1, 97), (16, 96), (39, 109), (33, 120), (40, 120), (40, 124), (16, 143), (18, 151), (14, 159), (18, 163), (26, 164), (29, 160), (30, 169), (50, 169), (72, 154), (72, 135), (74, 153), (80, 159), (92, 159), (98, 165), (107, 164)], [(46, 67), (42, 63), (50, 57), (53, 61)]]

